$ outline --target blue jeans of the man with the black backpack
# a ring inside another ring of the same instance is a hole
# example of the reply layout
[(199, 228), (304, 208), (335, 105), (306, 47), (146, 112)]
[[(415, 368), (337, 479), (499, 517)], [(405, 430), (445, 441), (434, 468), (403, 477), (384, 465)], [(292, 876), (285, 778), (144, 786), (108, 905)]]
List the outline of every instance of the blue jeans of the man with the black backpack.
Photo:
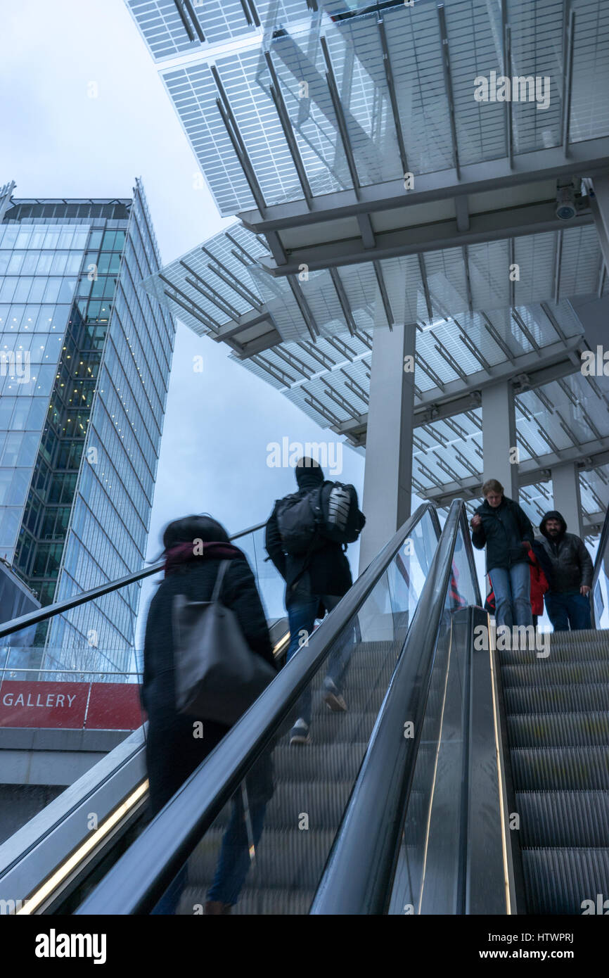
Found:
[[(296, 590), (287, 604), (287, 619), (289, 621), (289, 645), (287, 647), (286, 661), (289, 662), (292, 655), (295, 655), (299, 648), (306, 647), (309, 637), (313, 632), (315, 619), (318, 614), (320, 600), (324, 602), (327, 611), (331, 611), (338, 604), (340, 598), (336, 595), (311, 595), (304, 589)], [(327, 679), (331, 680), (336, 689), (342, 692), (344, 689), (347, 667), (351, 659), (353, 639), (347, 639), (346, 644), (338, 645), (329, 653), (327, 659)], [(312, 692), (311, 684), (304, 690), (298, 700), (298, 716), (309, 726), (311, 724), (312, 713)]]

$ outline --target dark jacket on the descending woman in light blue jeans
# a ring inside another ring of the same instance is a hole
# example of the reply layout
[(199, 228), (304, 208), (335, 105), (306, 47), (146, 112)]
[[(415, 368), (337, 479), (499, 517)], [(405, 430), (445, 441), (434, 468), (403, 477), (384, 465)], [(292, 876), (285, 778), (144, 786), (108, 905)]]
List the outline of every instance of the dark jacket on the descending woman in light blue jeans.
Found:
[(485, 500), (476, 510), (482, 525), (471, 531), (471, 542), (478, 550), (487, 549), (487, 574), (495, 567), (509, 570), (515, 563), (527, 563), (523, 540), (533, 543), (531, 520), (517, 503), (503, 496), (500, 506), (489, 506)]

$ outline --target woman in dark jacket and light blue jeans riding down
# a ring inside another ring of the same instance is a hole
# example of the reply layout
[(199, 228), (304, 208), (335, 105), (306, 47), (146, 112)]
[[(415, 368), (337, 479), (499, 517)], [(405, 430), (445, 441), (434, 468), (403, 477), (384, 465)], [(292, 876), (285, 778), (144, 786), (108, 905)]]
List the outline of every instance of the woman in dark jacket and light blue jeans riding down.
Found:
[(531, 577), (527, 552), (534, 532), (527, 514), (503, 495), (497, 479), (488, 479), (485, 498), (471, 519), (471, 542), (478, 550), (486, 547), (487, 574), (495, 592), (497, 624), (533, 625)]

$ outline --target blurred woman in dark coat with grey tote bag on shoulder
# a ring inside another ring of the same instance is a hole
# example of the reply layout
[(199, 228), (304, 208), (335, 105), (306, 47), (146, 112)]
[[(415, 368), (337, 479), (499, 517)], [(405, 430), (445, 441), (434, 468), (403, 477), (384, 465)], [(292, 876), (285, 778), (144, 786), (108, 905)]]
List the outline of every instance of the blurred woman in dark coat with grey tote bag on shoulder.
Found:
[[(210, 709), (213, 719), (199, 715), (196, 707), (193, 708), (193, 702), (201, 702), (200, 695), (191, 696), (189, 705), (189, 696), (185, 694), (189, 691), (185, 690), (185, 684), (196, 680), (199, 693), (205, 688), (203, 660), (209, 652), (217, 659), (218, 650), (204, 647), (204, 637), (217, 638), (218, 618), (224, 615), (231, 619), (228, 645), (239, 645), (239, 642), (241, 645), (239, 650), (234, 649), (235, 655), (233, 646), (227, 646), (227, 660), (242, 662), (243, 646), (245, 655), (248, 649), (255, 657), (251, 663), (245, 663), (249, 667), (245, 671), (251, 672), (253, 667), (258, 676), (258, 691), (277, 669), (254, 576), (245, 556), (231, 544), (224, 527), (211, 516), (185, 516), (165, 528), (163, 546), (165, 577), (148, 611), (142, 686), (142, 701), (149, 719), (146, 756), (152, 817), (228, 733), (238, 719), (240, 707), (236, 703), (244, 702), (242, 696), (239, 699), (239, 677), (230, 679), (231, 661), (227, 661), (226, 690), (218, 689), (216, 681), (214, 708)], [(201, 637), (203, 646), (197, 648)], [(240, 659), (236, 657), (238, 651)], [(202, 663), (198, 676), (193, 674), (194, 656)], [(184, 663), (189, 657), (185, 672)], [(214, 675), (217, 676), (217, 668)], [(226, 709), (223, 699), (226, 699)], [(193, 709), (195, 712), (189, 712)], [(202, 722), (202, 736), (196, 735), (200, 733), (196, 720)], [(208, 894), (206, 913), (228, 913), (237, 903), (249, 865), (249, 840), (253, 834), (257, 844), (266, 804), (273, 794), (269, 754), (263, 755), (255, 765), (246, 785), (248, 811), (244, 810), (241, 795), (237, 796), (216, 878)], [(165, 894), (153, 912), (173, 912), (185, 881), (186, 873), (180, 873), (172, 892)]]

